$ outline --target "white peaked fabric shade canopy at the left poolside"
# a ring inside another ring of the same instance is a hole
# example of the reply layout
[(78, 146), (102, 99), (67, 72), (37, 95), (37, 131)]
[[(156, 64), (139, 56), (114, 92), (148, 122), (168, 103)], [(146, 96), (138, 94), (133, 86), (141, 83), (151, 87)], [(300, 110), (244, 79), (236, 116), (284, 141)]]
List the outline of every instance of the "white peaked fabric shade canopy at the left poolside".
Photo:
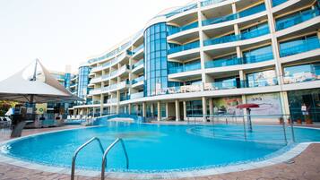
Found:
[(33, 103), (82, 101), (56, 81), (38, 59), (0, 81), (0, 100)]

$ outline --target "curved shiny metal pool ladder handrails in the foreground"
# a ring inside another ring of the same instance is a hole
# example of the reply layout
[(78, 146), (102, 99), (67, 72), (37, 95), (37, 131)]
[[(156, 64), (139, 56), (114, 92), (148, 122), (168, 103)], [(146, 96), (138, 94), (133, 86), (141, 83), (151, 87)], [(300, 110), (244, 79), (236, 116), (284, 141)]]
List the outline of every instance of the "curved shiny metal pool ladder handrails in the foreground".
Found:
[(84, 147), (86, 147), (92, 141), (98, 141), (99, 142), (99, 148), (100, 148), (100, 150), (101, 150), (101, 152), (103, 154), (103, 156), (102, 156), (102, 164), (101, 164), (101, 180), (105, 179), (105, 170), (106, 170), (106, 166), (107, 166), (107, 155), (108, 155), (108, 152), (117, 144), (117, 142), (121, 143), (122, 149), (124, 150), (124, 153), (125, 153), (126, 169), (129, 168), (129, 158), (128, 158), (128, 154), (126, 153), (126, 150), (125, 150), (125, 142), (121, 138), (117, 138), (115, 141), (113, 141), (108, 146), (108, 148), (106, 150), (103, 150), (103, 146), (102, 146), (102, 143), (99, 140), (99, 138), (93, 137), (89, 141), (86, 141), (85, 143), (83, 143), (82, 146), (80, 146), (77, 150), (75, 150), (74, 156), (73, 156), (72, 167), (71, 167), (71, 180), (74, 180), (75, 159), (77, 158), (78, 153), (80, 152), (80, 150), (82, 150)]

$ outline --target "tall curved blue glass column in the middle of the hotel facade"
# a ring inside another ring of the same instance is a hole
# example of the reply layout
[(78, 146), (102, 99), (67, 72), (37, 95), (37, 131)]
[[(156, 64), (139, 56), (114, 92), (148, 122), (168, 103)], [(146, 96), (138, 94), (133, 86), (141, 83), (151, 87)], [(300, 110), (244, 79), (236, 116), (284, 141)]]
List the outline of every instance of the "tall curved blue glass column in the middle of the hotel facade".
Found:
[(168, 88), (167, 25), (157, 23), (144, 31), (145, 96)]

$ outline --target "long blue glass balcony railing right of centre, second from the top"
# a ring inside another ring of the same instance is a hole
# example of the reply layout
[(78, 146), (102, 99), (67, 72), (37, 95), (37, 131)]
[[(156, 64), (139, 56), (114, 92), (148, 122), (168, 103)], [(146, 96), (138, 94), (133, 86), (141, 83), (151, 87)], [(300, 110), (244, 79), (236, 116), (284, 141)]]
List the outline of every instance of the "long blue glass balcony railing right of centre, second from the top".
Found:
[(222, 43), (228, 43), (228, 42), (234, 42), (238, 40), (246, 40), (246, 39), (254, 39), (260, 36), (264, 36), (265, 34), (269, 34), (270, 30), (269, 27), (264, 27), (262, 29), (256, 29), (249, 32), (241, 33), (238, 35), (229, 35), (224, 36), (217, 39), (207, 39), (203, 41), (204, 46), (210, 46), (210, 45), (216, 45), (216, 44), (222, 44)]

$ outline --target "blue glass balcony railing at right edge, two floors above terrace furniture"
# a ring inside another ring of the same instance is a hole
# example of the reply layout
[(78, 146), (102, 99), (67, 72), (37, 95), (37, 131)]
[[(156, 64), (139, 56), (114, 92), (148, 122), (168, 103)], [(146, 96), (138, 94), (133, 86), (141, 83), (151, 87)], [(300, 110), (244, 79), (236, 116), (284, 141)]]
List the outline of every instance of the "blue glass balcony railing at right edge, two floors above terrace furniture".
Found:
[(290, 28), (291, 26), (295, 26), (301, 22), (311, 20), (312, 18), (319, 16), (319, 14), (320, 14), (320, 10), (318, 8), (313, 10), (308, 10), (303, 13), (298, 13), (288, 18), (276, 21), (276, 29), (284, 30), (284, 29)]

